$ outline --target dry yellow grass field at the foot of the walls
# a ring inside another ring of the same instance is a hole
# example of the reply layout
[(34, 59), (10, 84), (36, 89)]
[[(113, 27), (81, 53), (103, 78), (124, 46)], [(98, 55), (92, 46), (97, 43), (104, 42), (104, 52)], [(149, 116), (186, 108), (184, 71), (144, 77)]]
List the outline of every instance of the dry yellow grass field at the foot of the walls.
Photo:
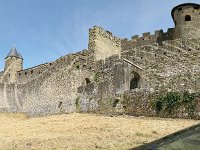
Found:
[(0, 150), (128, 149), (153, 141), (198, 120), (63, 114), (28, 118), (0, 114)]

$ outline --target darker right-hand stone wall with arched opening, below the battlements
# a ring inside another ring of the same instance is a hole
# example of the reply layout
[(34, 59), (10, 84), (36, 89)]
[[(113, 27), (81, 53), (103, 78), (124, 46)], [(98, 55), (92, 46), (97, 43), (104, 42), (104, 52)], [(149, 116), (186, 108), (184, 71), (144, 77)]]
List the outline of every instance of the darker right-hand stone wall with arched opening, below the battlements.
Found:
[[(121, 59), (113, 55), (97, 63), (95, 81), (80, 86), (80, 110), (156, 116), (151, 100), (161, 93), (198, 92), (200, 39), (168, 40), (135, 44), (122, 49)], [(138, 88), (130, 84), (135, 73)], [(196, 118), (200, 118), (200, 106)], [(184, 109), (185, 110), (185, 109)], [(166, 117), (187, 117), (182, 109)], [(164, 115), (165, 116), (165, 115)]]

